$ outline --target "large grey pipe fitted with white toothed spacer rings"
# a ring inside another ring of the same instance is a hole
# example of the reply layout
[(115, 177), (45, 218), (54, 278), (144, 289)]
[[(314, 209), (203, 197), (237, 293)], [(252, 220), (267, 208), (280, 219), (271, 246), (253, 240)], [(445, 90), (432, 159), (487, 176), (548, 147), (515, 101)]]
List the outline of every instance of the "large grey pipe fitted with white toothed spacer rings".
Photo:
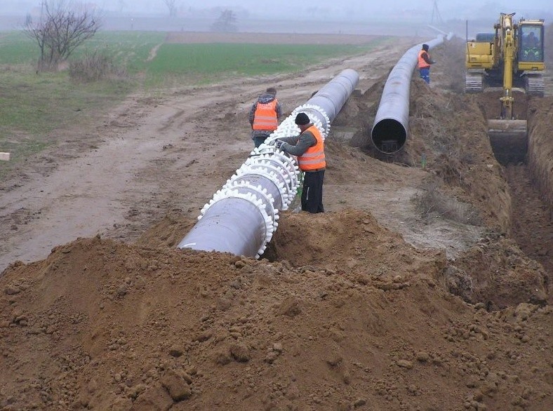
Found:
[(352, 95), (359, 75), (352, 69), (338, 76), (297, 107), (217, 191), (201, 210), (199, 221), (182, 238), (178, 248), (230, 252), (259, 257), (278, 226), (279, 210), (286, 210), (299, 185), (299, 167), (293, 156), (274, 146), (274, 141), (299, 135), (295, 116), (305, 112), (326, 137), (331, 121)]

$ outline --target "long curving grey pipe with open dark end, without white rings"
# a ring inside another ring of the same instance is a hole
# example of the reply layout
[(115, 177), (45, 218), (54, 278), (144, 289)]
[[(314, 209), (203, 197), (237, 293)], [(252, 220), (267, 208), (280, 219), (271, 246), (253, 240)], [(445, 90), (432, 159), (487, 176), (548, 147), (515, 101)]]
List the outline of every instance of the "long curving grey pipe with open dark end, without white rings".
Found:
[[(429, 48), (444, 42), (444, 36), (425, 42)], [(380, 97), (371, 140), (382, 153), (393, 154), (404, 147), (409, 127), (409, 92), (411, 76), (417, 67), (418, 53), (422, 43), (411, 47), (399, 59), (390, 72)]]

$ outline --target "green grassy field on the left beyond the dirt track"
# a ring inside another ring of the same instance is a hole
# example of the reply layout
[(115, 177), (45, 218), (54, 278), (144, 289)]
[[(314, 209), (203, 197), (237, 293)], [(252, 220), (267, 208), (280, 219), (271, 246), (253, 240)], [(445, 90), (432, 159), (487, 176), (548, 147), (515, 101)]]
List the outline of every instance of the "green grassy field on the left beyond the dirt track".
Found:
[(364, 46), (234, 43), (165, 43), (164, 32), (98, 32), (71, 60), (109, 56), (125, 76), (93, 83), (72, 81), (68, 70), (36, 73), (39, 49), (22, 32), (0, 33), (0, 176), (18, 161), (55, 144), (56, 129), (109, 112), (128, 93), (206, 84), (229, 76), (297, 72), (328, 58), (366, 53)]

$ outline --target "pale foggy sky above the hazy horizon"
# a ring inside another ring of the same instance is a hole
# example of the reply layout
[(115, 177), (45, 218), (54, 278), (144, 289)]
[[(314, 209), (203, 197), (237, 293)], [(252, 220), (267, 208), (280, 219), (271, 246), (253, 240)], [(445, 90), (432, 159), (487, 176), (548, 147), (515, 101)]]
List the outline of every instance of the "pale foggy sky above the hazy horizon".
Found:
[[(66, 0), (67, 1), (67, 0)], [(72, 0), (79, 2), (79, 0)], [(167, 13), (164, 0), (86, 0), (97, 4), (103, 11), (133, 13)], [(40, 0), (0, 0), (0, 15), (18, 13), (25, 15), (40, 4)], [(252, 17), (301, 20), (323, 18), (328, 20), (357, 20), (378, 18), (381, 15), (427, 14), (432, 15), (434, 0), (177, 0), (180, 10), (199, 10), (216, 6), (247, 11)], [(375, 5), (376, 4), (376, 5)], [(552, 0), (437, 0), (441, 18), (466, 19), (498, 13), (517, 13), (517, 17), (540, 18), (552, 15)], [(540, 11), (540, 13), (533, 13)]]

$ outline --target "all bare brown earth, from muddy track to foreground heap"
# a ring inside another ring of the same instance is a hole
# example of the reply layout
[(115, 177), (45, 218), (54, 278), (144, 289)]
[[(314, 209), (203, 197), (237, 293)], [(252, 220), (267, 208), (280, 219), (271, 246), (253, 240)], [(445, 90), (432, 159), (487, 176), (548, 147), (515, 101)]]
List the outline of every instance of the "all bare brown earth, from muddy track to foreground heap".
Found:
[[(0, 409), (550, 410), (539, 179), (495, 161), (453, 46), (430, 88), (413, 78), (405, 149), (376, 158), (369, 130), (408, 46), (133, 96), (76, 158), (60, 144), (16, 168), (0, 199)], [(361, 80), (326, 142), (327, 213), (281, 213), (260, 260), (176, 249), (253, 147), (255, 96), (276, 85), (290, 112), (344, 68)], [(553, 98), (528, 107), (538, 158)]]

